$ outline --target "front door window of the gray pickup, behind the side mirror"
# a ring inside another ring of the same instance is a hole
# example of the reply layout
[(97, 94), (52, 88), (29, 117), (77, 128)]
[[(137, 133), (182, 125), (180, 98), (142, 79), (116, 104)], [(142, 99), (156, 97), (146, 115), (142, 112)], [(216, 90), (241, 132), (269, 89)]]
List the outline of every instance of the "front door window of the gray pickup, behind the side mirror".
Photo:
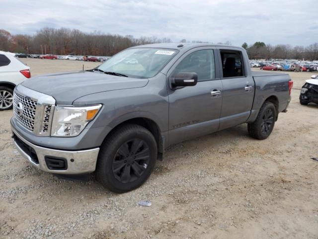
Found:
[(213, 50), (199, 50), (187, 55), (175, 68), (173, 75), (179, 72), (195, 72), (198, 81), (209, 81), (215, 78)]

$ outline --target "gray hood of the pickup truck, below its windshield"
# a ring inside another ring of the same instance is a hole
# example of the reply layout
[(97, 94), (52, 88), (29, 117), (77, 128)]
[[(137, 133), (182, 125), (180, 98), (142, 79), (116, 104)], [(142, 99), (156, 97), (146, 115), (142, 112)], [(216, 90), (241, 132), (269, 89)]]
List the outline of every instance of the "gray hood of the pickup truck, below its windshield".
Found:
[(113, 76), (100, 72), (78, 71), (36, 76), (24, 81), (22, 85), (54, 97), (58, 105), (71, 105), (82, 96), (144, 87), (148, 81), (148, 79)]

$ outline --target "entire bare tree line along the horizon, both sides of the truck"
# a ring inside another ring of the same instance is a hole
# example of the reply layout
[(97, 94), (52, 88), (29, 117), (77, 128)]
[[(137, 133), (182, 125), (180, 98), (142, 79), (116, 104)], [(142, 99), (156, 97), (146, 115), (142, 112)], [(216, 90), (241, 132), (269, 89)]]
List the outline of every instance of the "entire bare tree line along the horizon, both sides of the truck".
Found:
[[(112, 56), (128, 47), (150, 43), (172, 42), (169, 38), (140, 37), (132, 35), (84, 33), (78, 29), (44, 27), (34, 35), (11, 34), (0, 29), (0, 50), (28, 54), (96, 55)], [(180, 42), (187, 42), (186, 39)], [(202, 43), (202, 41), (192, 41)], [(207, 42), (203, 42), (207, 43)], [(227, 41), (224, 44), (231, 45)], [(318, 60), (318, 43), (309, 46), (288, 44), (271, 45), (264, 42), (242, 44), (249, 59), (306, 59)]]

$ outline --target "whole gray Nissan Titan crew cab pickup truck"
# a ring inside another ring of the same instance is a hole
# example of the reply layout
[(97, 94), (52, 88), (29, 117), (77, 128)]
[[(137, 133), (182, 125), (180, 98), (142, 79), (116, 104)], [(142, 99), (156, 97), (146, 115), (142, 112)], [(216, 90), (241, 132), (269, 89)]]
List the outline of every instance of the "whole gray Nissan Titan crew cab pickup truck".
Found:
[(95, 69), (33, 77), (14, 90), (12, 138), (35, 167), (142, 185), (174, 143), (247, 123), (265, 139), (286, 112), (288, 74), (251, 72), (243, 48), (151, 44)]

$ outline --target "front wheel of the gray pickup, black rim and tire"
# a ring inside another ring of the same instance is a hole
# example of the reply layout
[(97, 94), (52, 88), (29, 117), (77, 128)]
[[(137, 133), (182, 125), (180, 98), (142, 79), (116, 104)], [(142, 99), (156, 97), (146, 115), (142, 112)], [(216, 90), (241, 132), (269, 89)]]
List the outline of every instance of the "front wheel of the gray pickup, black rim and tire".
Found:
[(112, 192), (129, 192), (147, 181), (156, 160), (154, 135), (140, 125), (126, 124), (115, 129), (101, 145), (95, 176)]

